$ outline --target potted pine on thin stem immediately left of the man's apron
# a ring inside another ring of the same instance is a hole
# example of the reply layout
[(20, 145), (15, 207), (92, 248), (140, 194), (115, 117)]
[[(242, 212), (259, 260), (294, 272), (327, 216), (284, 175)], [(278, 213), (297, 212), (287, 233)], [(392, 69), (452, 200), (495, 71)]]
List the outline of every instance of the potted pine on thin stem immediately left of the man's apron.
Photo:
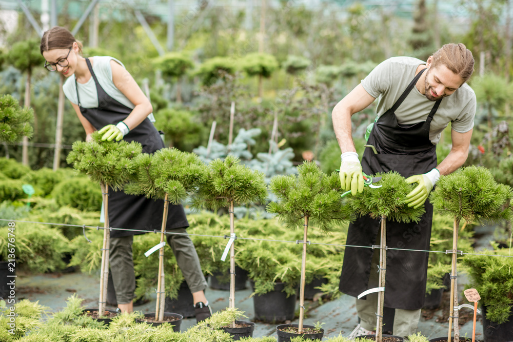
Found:
[(350, 208), (342, 204), (341, 194), (343, 191), (340, 187), (339, 175), (333, 172), (328, 176), (319, 169), (317, 164), (306, 162), (298, 167), (298, 176), (272, 177), (269, 188), (277, 196), (278, 202), (269, 203), (267, 210), (278, 216), (287, 227), (303, 227), (299, 324), (277, 326), (278, 340), (279, 342), (288, 342), (293, 336), (321, 339), (324, 329), (303, 325), (307, 233), (309, 224), (324, 231), (330, 231), (347, 222), (351, 217)]

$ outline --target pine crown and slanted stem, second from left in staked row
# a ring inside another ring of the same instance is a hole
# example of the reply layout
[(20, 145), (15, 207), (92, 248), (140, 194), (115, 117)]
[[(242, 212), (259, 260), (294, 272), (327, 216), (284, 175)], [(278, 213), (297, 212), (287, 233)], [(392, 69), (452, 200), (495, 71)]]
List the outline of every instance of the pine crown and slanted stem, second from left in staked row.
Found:
[[(141, 154), (135, 159), (135, 173), (132, 181), (125, 186), (125, 192), (132, 195), (145, 195), (148, 198), (164, 199), (164, 213), (159, 248), (159, 273), (155, 321), (164, 321), (165, 272), (164, 246), (169, 203), (180, 204), (194, 192), (200, 180), (204, 179), (205, 167), (199, 157), (192, 153), (164, 148), (154, 154)], [(149, 318), (151, 315), (148, 315)]]

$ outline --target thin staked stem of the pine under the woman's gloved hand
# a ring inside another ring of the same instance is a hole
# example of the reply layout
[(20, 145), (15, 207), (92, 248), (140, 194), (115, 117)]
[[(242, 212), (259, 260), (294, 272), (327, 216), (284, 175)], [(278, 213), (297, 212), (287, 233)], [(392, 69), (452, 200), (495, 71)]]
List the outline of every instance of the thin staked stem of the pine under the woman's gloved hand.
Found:
[(103, 248), (102, 248), (102, 269), (100, 272), (100, 300), (98, 300), (98, 316), (103, 316), (105, 312), (105, 303), (107, 299), (107, 279), (109, 279), (109, 247), (110, 230), (109, 228), (109, 186), (101, 183), (103, 204), (104, 204), (104, 230), (103, 230)]

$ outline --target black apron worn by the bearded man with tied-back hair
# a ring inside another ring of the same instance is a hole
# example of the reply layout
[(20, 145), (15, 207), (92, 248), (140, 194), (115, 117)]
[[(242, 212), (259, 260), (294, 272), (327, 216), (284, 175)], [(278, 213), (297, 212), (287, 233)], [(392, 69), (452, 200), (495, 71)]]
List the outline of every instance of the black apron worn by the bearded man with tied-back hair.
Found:
[[(437, 166), (436, 146), (429, 139), (429, 127), (440, 102), (438, 100), (426, 122), (399, 125), (395, 111), (415, 87), (424, 72), (421, 70), (408, 85), (397, 102), (380, 116), (374, 124), (362, 158), (363, 172), (372, 175), (391, 170), (404, 177), (423, 174)], [(426, 212), (420, 222), (399, 223), (387, 219), (386, 239), (388, 248), (429, 250), (433, 206), (426, 200)], [(380, 232), (380, 219), (359, 217), (349, 225), (347, 245), (372, 246)], [(378, 243), (379, 244), (379, 243)], [(371, 248), (346, 247), (340, 276), (341, 292), (357, 297), (367, 290), (371, 267)], [(386, 260), (385, 307), (416, 310), (424, 305), (427, 263), (429, 253), (388, 250)]]

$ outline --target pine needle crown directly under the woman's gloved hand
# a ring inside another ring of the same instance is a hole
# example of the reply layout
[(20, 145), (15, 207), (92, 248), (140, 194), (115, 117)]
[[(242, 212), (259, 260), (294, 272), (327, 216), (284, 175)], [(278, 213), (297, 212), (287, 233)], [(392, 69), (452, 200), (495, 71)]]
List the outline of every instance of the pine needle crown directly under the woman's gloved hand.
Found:
[(142, 152), (137, 142), (108, 142), (97, 131), (90, 142), (74, 142), (66, 161), (93, 182), (121, 189), (134, 172), (133, 160)]

